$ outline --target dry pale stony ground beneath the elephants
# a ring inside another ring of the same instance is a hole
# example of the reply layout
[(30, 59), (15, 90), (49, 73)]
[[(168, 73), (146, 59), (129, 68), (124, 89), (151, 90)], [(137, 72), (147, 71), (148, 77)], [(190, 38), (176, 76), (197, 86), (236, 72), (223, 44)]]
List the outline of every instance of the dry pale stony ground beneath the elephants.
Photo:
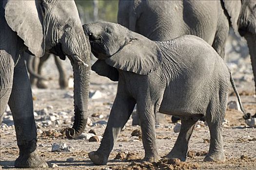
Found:
[[(52, 71), (54, 72), (54, 70)], [(53, 74), (53, 73), (52, 73)], [(57, 73), (56, 73), (57, 74)], [(57, 75), (52, 75), (58, 77)], [(242, 102), (247, 112), (255, 113), (255, 95), (253, 82), (236, 82), (238, 90), (243, 91)], [(66, 98), (67, 92), (72, 89), (61, 90), (57, 79), (50, 82), (49, 89), (33, 89), (34, 108), (40, 110), (47, 105), (54, 106), (53, 111), (64, 111), (72, 114), (73, 99)], [(100, 77), (92, 72), (91, 89), (99, 90), (105, 94), (101, 99), (90, 99), (89, 117), (93, 122), (107, 120), (110, 108), (115, 98), (117, 83), (107, 78)], [(230, 93), (232, 93), (230, 89)], [(235, 100), (231, 94), (229, 101)], [(103, 115), (103, 118), (98, 118)], [(224, 151), (226, 162), (203, 162), (204, 155), (209, 149), (210, 133), (207, 126), (197, 126), (190, 140), (189, 156), (186, 163), (177, 160), (163, 159), (157, 163), (140, 162), (144, 150), (142, 141), (133, 139), (132, 132), (139, 129), (131, 125), (131, 119), (121, 131), (118, 141), (110, 154), (106, 166), (95, 166), (88, 158), (88, 153), (98, 149), (100, 142), (89, 142), (88, 140), (68, 140), (61, 135), (61, 130), (70, 127), (71, 124), (62, 124), (59, 127), (48, 127), (39, 129), (37, 152), (48, 163), (55, 163), (60, 170), (147, 170), (147, 169), (200, 169), (200, 170), (255, 170), (256, 169), (256, 128), (248, 128), (242, 119), (242, 113), (237, 110), (227, 110), (226, 117), (229, 124), (223, 128)], [(177, 139), (178, 133), (174, 133), (169, 116), (166, 122), (157, 128), (158, 149), (160, 156), (171, 151)], [(86, 132), (93, 129), (98, 136), (102, 136), (105, 125), (88, 126)], [(70, 152), (51, 152), (54, 142), (64, 142), (74, 148)], [(18, 157), (17, 140), (14, 128), (1, 129), (0, 136), (0, 165), (2, 169), (14, 170), (14, 160)], [(118, 156), (117, 156), (118, 155)], [(114, 158), (118, 159), (114, 159)], [(74, 158), (74, 161), (67, 161)], [(121, 159), (121, 160), (120, 160)], [(53, 168), (47, 168), (53, 169)]]

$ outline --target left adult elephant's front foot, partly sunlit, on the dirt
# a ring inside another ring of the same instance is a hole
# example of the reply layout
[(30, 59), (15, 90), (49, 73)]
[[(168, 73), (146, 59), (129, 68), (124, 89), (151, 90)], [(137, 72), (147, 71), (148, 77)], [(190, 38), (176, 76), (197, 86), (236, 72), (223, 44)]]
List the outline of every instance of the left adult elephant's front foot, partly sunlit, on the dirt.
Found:
[(14, 162), (15, 168), (47, 168), (47, 163), (35, 152), (22, 153)]

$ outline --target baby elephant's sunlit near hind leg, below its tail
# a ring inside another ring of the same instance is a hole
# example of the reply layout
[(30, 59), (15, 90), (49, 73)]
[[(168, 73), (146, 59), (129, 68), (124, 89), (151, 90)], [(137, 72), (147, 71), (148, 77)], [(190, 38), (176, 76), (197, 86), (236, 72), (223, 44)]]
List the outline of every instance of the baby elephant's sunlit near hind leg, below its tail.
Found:
[(228, 86), (220, 88), (217, 96), (213, 98), (207, 107), (206, 122), (210, 130), (210, 149), (204, 161), (225, 161), (222, 140), (222, 122), (225, 117), (225, 111), (228, 98)]

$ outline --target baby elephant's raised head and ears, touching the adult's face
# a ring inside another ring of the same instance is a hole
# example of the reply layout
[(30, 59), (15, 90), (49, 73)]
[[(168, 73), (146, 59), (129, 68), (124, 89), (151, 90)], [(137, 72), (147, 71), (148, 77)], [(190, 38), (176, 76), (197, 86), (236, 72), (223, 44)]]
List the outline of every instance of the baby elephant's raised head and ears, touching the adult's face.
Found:
[(99, 59), (92, 70), (113, 81), (118, 81), (118, 69), (146, 75), (162, 62), (155, 42), (119, 24), (95, 22), (83, 25), (83, 29)]

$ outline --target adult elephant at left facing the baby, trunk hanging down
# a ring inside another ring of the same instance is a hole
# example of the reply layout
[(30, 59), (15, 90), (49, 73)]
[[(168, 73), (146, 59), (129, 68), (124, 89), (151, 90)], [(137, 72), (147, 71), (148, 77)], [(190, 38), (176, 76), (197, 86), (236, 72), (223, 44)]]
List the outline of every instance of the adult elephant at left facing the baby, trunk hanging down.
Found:
[[(75, 138), (87, 122), (90, 46), (74, 1), (0, 1), (0, 120), (11, 108), (20, 155), (14, 166), (39, 168), (47, 164), (35, 152), (37, 129), (24, 51), (41, 57), (45, 51), (71, 61), (74, 71), (75, 120), (66, 132)], [(87, 66), (85, 64), (88, 64)]]

